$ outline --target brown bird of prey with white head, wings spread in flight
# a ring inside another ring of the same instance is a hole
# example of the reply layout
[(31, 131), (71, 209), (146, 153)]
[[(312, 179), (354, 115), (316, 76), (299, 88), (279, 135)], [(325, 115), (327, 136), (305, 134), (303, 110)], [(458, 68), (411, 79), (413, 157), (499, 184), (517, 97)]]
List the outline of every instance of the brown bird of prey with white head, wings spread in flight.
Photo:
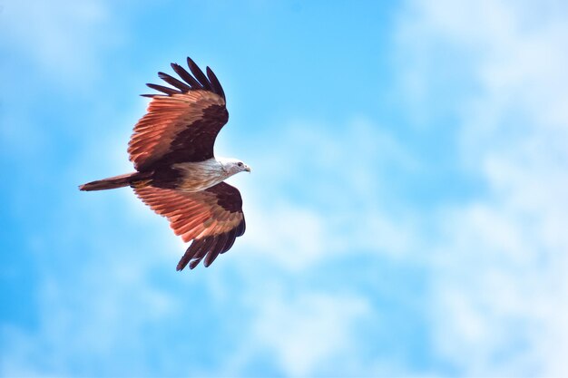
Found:
[(171, 63), (182, 81), (158, 73), (174, 88), (146, 84), (163, 94), (142, 94), (152, 101), (128, 143), (136, 171), (79, 187), (132, 187), (146, 205), (168, 218), (176, 235), (184, 242), (192, 240), (177, 270), (188, 264), (193, 269), (202, 259), (209, 267), (244, 234), (240, 192), (223, 181), (250, 172), (240, 160), (213, 155), (217, 134), (229, 120), (225, 92), (209, 67), (205, 74), (189, 57), (187, 63), (191, 73)]

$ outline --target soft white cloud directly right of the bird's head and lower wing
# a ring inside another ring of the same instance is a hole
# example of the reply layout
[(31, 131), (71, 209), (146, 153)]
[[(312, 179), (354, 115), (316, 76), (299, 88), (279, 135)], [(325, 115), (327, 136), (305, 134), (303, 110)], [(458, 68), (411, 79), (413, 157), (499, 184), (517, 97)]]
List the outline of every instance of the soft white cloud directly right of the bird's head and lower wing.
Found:
[[(240, 243), (280, 268), (298, 271), (353, 250), (401, 257), (417, 244), (413, 217), (393, 218), (380, 196), (390, 170), (418, 169), (414, 156), (369, 121), (350, 121), (333, 134), (330, 129), (292, 122), (277, 137), (279, 145), (260, 150), (260, 164), (235, 184), (245, 195), (248, 224)], [(305, 199), (290, 199), (285, 186)]]

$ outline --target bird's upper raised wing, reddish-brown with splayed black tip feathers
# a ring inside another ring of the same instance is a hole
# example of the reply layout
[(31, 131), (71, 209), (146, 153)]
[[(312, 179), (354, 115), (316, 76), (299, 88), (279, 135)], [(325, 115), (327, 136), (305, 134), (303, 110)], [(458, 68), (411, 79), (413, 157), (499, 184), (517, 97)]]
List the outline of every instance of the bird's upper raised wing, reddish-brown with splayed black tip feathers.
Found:
[(134, 126), (128, 144), (136, 170), (213, 157), (215, 138), (229, 120), (225, 93), (209, 67), (205, 75), (190, 58), (188, 65), (193, 75), (181, 65), (171, 63), (183, 82), (167, 73), (158, 73), (175, 88), (146, 84), (165, 94), (144, 94), (152, 101)]

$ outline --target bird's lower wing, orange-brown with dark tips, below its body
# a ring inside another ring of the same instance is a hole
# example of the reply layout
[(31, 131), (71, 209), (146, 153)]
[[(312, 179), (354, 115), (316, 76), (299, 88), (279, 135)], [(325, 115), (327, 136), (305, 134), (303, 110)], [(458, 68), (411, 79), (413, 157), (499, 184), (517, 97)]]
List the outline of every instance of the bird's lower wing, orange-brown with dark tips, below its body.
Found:
[(153, 187), (134, 191), (152, 210), (168, 218), (173, 232), (183, 241), (193, 240), (177, 270), (190, 261), (193, 269), (203, 257), (205, 267), (209, 267), (245, 232), (240, 192), (224, 182), (197, 192)]

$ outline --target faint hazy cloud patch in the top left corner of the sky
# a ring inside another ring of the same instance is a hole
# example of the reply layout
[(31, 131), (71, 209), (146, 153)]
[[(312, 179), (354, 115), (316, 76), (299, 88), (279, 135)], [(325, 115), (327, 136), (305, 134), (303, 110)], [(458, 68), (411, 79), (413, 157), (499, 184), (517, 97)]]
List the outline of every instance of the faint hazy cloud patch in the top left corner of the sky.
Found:
[(0, 44), (24, 54), (44, 78), (73, 83), (75, 91), (78, 79), (93, 77), (97, 48), (120, 39), (106, 23), (106, 6), (98, 0), (8, 2), (0, 17)]

